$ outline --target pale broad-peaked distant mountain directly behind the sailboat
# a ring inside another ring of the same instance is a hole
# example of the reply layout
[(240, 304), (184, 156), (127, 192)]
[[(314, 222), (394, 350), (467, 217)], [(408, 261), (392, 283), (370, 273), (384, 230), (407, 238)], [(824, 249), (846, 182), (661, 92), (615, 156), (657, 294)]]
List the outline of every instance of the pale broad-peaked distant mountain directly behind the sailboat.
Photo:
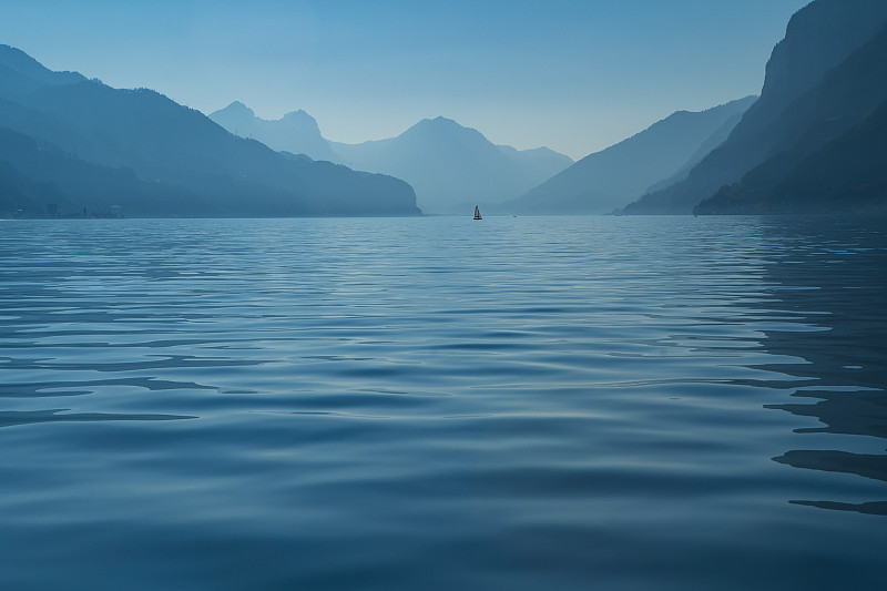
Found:
[(467, 203), (500, 203), (571, 163), (548, 149), (497, 146), (445, 118), (425, 119), (397, 137), (332, 146), (349, 166), (406, 180), (422, 211), (439, 214), (465, 213)]

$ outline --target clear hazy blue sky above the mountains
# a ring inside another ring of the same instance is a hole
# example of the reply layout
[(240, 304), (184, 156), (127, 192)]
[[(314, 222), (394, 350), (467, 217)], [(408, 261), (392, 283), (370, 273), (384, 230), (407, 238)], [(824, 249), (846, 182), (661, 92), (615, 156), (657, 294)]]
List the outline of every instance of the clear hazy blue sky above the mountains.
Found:
[(757, 93), (808, 0), (0, 0), (0, 42), (210, 113), (360, 142), (437, 115), (581, 157)]

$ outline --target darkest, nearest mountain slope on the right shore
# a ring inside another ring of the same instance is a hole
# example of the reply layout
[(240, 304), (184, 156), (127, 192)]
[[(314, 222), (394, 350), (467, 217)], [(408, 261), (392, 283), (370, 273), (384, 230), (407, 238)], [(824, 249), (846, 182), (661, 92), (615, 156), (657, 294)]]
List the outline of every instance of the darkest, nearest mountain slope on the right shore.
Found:
[(797, 141), (694, 210), (887, 212), (887, 28), (793, 104)]

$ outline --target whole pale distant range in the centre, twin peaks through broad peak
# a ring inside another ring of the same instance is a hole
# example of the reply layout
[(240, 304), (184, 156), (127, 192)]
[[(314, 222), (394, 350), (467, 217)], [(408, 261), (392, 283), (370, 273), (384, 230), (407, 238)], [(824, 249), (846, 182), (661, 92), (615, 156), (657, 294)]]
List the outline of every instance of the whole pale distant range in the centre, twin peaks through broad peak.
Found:
[(548, 147), (493, 145), (479, 131), (445, 119), (425, 119), (397, 137), (360, 144), (330, 142), (304, 111), (276, 121), (259, 119), (239, 102), (210, 118), (242, 137), (351, 169), (404, 179), (426, 213), (463, 213), (476, 203), (520, 195), (573, 163)]

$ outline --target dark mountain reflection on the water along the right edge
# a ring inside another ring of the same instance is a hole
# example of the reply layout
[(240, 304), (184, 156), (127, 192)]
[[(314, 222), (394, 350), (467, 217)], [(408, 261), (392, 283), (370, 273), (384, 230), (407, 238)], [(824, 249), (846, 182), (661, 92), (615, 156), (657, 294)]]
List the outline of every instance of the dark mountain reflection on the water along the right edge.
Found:
[[(823, 424), (796, 432), (887, 439), (887, 220), (768, 218), (762, 223), (774, 243), (766, 269), (778, 300), (776, 309), (818, 328), (766, 332), (764, 345), (769, 353), (807, 361), (771, 366), (802, 379), (793, 383), (797, 390), (792, 396), (804, 400), (767, 408)], [(773, 459), (795, 468), (887, 482), (884, 454), (796, 449)], [(887, 501), (791, 502), (887, 516)]]

